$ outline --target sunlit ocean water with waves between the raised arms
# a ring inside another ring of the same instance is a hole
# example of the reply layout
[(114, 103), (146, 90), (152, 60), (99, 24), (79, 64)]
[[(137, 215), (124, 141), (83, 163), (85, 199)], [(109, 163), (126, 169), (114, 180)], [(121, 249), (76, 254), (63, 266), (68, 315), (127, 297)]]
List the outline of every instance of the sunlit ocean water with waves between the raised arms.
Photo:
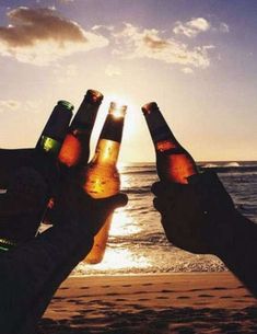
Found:
[[(257, 223), (257, 161), (200, 162), (199, 168), (214, 170), (238, 210)], [(215, 256), (190, 254), (167, 242), (152, 206), (150, 189), (159, 180), (154, 163), (122, 164), (119, 172), (129, 203), (114, 215), (103, 262), (80, 263), (74, 275), (226, 270)]]

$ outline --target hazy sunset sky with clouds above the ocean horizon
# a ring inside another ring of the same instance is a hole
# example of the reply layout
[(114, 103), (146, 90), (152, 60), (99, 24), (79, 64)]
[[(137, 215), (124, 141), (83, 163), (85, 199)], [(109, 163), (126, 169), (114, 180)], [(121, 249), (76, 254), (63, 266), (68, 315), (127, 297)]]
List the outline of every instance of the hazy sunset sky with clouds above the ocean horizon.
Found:
[(0, 0), (0, 147), (34, 147), (59, 100), (128, 105), (120, 161), (154, 161), (155, 101), (197, 161), (257, 160), (256, 0)]

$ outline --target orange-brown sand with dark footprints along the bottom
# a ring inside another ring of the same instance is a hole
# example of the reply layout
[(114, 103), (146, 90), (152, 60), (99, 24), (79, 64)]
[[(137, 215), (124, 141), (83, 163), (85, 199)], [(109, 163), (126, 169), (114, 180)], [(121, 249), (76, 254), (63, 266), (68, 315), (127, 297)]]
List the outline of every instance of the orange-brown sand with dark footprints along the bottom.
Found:
[(70, 277), (38, 334), (257, 334), (256, 299), (230, 273)]

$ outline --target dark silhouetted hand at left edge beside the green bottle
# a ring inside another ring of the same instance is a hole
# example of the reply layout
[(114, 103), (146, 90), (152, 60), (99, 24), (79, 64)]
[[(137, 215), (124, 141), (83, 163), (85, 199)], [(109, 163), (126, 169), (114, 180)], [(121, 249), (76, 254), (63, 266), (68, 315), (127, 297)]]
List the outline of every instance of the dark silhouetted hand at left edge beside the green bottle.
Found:
[[(0, 239), (14, 243), (35, 237), (58, 168), (35, 149), (0, 150)], [(48, 171), (46, 171), (48, 169)]]

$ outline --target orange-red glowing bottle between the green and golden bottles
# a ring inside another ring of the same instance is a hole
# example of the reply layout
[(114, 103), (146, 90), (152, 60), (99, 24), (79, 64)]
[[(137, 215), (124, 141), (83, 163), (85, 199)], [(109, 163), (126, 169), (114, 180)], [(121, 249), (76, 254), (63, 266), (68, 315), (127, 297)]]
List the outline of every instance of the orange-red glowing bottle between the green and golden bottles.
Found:
[(102, 93), (87, 90), (58, 157), (62, 169), (86, 165), (90, 157), (90, 138), (103, 97)]

